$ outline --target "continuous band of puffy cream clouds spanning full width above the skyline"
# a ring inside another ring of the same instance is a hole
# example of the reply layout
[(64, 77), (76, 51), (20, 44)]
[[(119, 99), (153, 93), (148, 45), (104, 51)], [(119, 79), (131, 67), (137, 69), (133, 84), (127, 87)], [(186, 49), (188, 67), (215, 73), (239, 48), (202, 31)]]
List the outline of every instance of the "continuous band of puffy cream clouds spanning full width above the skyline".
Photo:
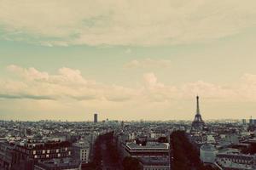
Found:
[(256, 76), (253, 74), (244, 74), (233, 84), (220, 85), (199, 80), (174, 86), (159, 81), (154, 72), (148, 72), (143, 74), (143, 83), (139, 87), (127, 88), (88, 80), (79, 70), (67, 67), (60, 68), (56, 74), (18, 65), (9, 65), (8, 70), (16, 77), (1, 80), (1, 99), (139, 104), (192, 99), (199, 94), (205, 99), (218, 101), (256, 100)]

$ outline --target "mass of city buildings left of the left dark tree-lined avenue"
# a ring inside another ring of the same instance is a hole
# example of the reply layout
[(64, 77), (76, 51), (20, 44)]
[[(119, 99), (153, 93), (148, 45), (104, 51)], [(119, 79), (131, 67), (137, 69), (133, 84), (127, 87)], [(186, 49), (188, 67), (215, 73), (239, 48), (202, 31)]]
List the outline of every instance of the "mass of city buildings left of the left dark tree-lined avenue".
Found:
[(0, 169), (80, 169), (92, 160), (97, 136), (115, 127), (119, 124), (0, 121)]

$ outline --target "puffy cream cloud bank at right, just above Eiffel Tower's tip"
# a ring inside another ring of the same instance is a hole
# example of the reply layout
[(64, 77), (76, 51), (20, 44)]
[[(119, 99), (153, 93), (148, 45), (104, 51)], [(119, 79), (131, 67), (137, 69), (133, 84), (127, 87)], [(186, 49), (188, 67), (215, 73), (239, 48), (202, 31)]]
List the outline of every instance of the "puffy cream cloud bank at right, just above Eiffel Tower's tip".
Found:
[(217, 101), (256, 101), (256, 75), (253, 74), (244, 74), (236, 83), (224, 85), (199, 80), (172, 86), (160, 82), (153, 72), (144, 74), (143, 80), (145, 86), (143, 95), (149, 101), (165, 102), (174, 99), (192, 99), (195, 95)]

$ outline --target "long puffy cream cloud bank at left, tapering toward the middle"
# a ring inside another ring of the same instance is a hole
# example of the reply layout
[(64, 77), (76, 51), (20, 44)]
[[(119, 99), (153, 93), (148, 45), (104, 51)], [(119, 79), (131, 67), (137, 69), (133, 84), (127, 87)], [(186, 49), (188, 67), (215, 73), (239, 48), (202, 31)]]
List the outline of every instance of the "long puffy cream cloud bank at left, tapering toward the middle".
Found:
[[(5, 99), (75, 99), (127, 101), (134, 94), (133, 89), (116, 85), (104, 85), (85, 79), (79, 70), (60, 68), (56, 74), (37, 69), (9, 65), (8, 71), (15, 81), (0, 82), (0, 98)], [(20, 78), (19, 78), (20, 77)]]

